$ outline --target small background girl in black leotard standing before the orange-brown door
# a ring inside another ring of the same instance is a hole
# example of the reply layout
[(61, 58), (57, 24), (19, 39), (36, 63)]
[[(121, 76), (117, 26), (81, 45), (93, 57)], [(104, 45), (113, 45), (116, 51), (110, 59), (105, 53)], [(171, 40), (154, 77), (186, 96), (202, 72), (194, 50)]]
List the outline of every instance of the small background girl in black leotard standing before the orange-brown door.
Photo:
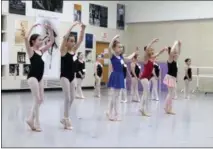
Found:
[(95, 62), (95, 97), (101, 97), (101, 79), (103, 78), (103, 65), (101, 64), (102, 55), (97, 56)]

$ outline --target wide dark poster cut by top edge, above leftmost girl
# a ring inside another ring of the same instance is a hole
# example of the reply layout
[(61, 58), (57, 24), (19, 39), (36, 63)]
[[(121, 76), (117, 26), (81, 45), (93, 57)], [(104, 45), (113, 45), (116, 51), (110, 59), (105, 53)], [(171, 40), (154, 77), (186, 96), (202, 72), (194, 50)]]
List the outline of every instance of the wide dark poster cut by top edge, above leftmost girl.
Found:
[(32, 0), (35, 9), (62, 13), (63, 0)]

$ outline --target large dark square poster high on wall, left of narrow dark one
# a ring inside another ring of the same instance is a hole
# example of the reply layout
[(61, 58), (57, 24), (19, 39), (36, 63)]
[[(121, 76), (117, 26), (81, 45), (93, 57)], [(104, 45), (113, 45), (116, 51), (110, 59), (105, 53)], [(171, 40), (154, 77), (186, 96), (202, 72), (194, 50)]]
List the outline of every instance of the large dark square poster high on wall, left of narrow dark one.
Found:
[(89, 24), (99, 27), (108, 27), (108, 8), (95, 4), (89, 5)]

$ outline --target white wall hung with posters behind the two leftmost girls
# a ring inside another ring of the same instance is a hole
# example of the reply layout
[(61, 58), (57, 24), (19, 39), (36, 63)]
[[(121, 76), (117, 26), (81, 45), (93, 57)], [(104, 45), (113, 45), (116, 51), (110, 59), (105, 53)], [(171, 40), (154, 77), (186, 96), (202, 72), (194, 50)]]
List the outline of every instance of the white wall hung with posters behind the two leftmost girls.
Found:
[[(99, 4), (108, 7), (108, 28), (101, 28), (96, 26), (89, 25), (89, 4)], [(92, 33), (94, 35), (94, 43), (93, 43), (93, 61), (95, 61), (95, 53), (96, 53), (96, 41), (105, 41), (110, 42), (110, 40), (116, 35), (121, 35), (121, 41), (125, 42), (125, 31), (116, 29), (116, 12), (117, 12), (117, 3), (116, 1), (64, 1), (63, 3), (63, 13), (54, 13), (49, 11), (42, 11), (32, 9), (32, 1), (26, 1), (26, 16), (16, 15), (8, 13), (8, 1), (2, 1), (2, 13), (7, 16), (7, 42), (9, 43), (9, 63), (17, 63), (17, 51), (20, 50), (20, 47), (24, 47), (24, 45), (17, 46), (15, 45), (15, 20), (28, 20), (29, 26), (35, 23), (36, 15), (38, 13), (45, 13), (45, 15), (49, 16), (58, 16), (60, 17), (60, 38), (63, 37), (64, 33), (66, 33), (67, 29), (71, 26), (73, 22), (73, 7), (74, 4), (82, 5), (82, 22), (87, 25), (86, 33)], [(122, 4), (122, 2), (119, 2)], [(75, 28), (74, 31), (79, 32), (79, 28)], [(103, 33), (107, 33), (107, 38), (103, 39)], [(60, 39), (61, 41), (61, 39)], [(82, 45), (79, 48), (79, 51), (84, 52), (85, 50), (85, 41), (83, 41)], [(27, 60), (29, 63), (29, 60)], [(93, 86), (94, 85), (94, 63), (86, 63), (86, 78), (84, 80), (83, 86)], [(9, 66), (7, 66), (7, 76), (2, 80), (2, 89), (20, 89), (21, 81), (26, 80), (26, 76), (18, 76), (13, 77), (9, 76)], [(22, 68), (20, 68), (20, 74), (22, 74)]]

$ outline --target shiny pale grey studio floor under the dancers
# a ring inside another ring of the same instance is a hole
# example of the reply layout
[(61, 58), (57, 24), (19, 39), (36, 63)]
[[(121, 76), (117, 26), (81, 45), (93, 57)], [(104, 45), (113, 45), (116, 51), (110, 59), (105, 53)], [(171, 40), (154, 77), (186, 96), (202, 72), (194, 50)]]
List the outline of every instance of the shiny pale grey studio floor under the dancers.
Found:
[(152, 116), (140, 116), (139, 103), (120, 105), (123, 121), (105, 117), (107, 90), (102, 99), (93, 90), (76, 99), (71, 119), (74, 130), (60, 124), (63, 112), (61, 91), (45, 92), (40, 120), (43, 132), (29, 130), (25, 120), (32, 106), (30, 92), (2, 94), (2, 147), (213, 147), (213, 95), (195, 94), (190, 100), (174, 101), (175, 116), (163, 111), (165, 93), (152, 101)]

